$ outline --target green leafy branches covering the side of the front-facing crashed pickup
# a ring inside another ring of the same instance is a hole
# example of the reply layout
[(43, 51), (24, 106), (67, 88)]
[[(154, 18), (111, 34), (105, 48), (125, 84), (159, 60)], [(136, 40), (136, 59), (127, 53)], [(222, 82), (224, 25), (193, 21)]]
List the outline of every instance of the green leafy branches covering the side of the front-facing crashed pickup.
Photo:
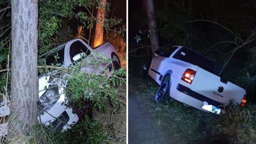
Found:
[[(121, 68), (115, 71), (114, 75), (109, 79), (110, 74), (107, 73), (107, 69), (102, 74), (94, 74), (81, 71), (82, 66), (94, 67), (99, 69), (100, 63), (109, 63), (108, 59), (101, 56), (101, 59), (93, 58), (89, 63), (87, 59), (81, 60), (79, 66), (74, 71), (70, 71), (70, 76), (67, 80), (68, 87), (66, 91), (72, 92), (72, 101), (78, 101), (79, 98), (87, 99), (93, 102), (94, 106), (98, 109), (104, 108), (104, 103), (110, 101), (113, 107), (124, 106), (118, 99), (116, 99), (117, 89), (116, 86), (125, 84), (124, 79), (118, 76), (125, 77), (125, 69)], [(112, 69), (113, 70), (113, 69)]]

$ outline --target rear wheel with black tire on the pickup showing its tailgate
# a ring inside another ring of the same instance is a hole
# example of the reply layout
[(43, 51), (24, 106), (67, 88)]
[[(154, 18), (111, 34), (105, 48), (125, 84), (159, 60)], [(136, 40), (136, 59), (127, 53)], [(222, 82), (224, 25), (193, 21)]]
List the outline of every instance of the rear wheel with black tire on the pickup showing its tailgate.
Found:
[(170, 99), (170, 75), (166, 75), (165, 78), (163, 79), (162, 84), (160, 85), (160, 87), (157, 90), (157, 94), (155, 97), (155, 101), (156, 102), (161, 102), (161, 103), (166, 103), (167, 101), (169, 101)]

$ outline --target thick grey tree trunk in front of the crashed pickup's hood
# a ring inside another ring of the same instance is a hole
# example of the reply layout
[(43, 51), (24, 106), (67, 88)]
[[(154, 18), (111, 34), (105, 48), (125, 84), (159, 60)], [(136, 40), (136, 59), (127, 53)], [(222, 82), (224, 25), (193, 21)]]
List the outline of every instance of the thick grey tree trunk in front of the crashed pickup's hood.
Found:
[[(10, 129), (23, 135), (36, 124), (38, 101), (38, 0), (12, 0)], [(10, 132), (11, 133), (11, 132)]]

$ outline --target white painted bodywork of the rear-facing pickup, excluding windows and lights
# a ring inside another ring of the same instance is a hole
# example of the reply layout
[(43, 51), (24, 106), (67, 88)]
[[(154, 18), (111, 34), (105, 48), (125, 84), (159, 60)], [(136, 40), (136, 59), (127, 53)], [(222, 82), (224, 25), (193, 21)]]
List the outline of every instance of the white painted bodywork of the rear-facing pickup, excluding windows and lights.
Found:
[[(159, 85), (161, 85), (166, 73), (171, 73), (171, 86), (169, 89), (170, 97), (205, 112), (207, 111), (205, 109), (202, 109), (204, 101), (209, 103), (212, 102), (214, 104), (224, 104), (229, 102), (229, 100), (233, 100), (236, 103), (241, 103), (242, 98), (244, 97), (244, 95), (246, 95), (245, 89), (242, 89), (241, 87), (236, 86), (229, 81), (227, 82), (227, 84), (224, 84), (220, 81), (221, 78), (219, 76), (208, 72), (197, 65), (173, 58), (173, 56), (183, 46), (174, 47), (177, 47), (177, 49), (172, 52), (169, 58), (162, 56), (155, 56), (154, 58), (152, 58), (150, 68), (148, 69), (148, 74)], [(182, 75), (186, 71), (186, 69), (192, 69), (196, 71), (192, 84), (186, 83), (185, 81), (181, 80)], [(178, 90), (178, 86), (180, 85), (192, 90), (193, 92), (198, 93), (201, 99), (196, 98), (196, 96), (192, 97), (190, 95), (187, 95), (186, 92), (180, 92)], [(219, 86), (224, 87), (223, 92), (218, 92)], [(202, 101), (202, 99), (204, 99), (204, 101)]]

